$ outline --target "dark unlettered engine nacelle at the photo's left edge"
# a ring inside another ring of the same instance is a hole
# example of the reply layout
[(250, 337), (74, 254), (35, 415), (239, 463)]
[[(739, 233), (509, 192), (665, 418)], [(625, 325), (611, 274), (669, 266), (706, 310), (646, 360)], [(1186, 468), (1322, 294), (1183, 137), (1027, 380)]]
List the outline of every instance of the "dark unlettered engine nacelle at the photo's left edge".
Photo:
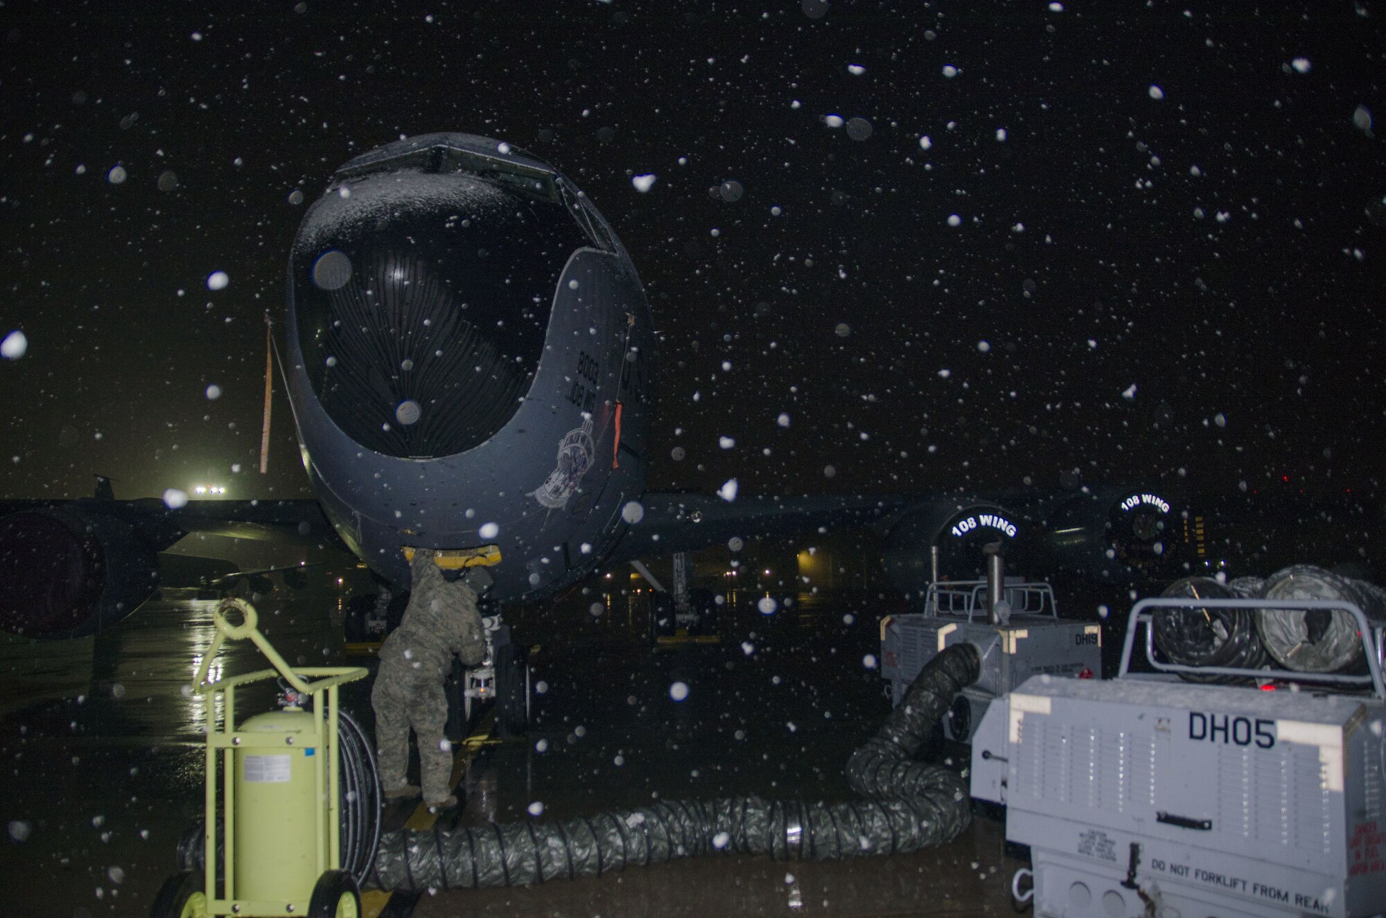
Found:
[(30, 638), (93, 634), (158, 587), (141, 531), (115, 516), (44, 508), (0, 519), (0, 628)]

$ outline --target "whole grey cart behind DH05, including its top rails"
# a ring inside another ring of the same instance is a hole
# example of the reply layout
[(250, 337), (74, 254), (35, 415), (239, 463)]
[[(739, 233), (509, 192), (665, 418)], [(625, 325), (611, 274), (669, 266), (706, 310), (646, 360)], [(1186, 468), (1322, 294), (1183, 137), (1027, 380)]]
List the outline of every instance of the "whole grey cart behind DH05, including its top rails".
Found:
[(1102, 673), (1100, 628), (1059, 618), (1049, 584), (1006, 577), (1005, 621), (988, 616), (987, 591), (985, 580), (930, 584), (926, 612), (891, 616), (880, 624), (881, 675), (890, 681), (895, 706), (944, 648), (977, 645), (981, 677), (958, 693), (944, 718), (944, 735), (958, 742), (969, 742), (994, 699), (1037, 673), (1084, 678)]

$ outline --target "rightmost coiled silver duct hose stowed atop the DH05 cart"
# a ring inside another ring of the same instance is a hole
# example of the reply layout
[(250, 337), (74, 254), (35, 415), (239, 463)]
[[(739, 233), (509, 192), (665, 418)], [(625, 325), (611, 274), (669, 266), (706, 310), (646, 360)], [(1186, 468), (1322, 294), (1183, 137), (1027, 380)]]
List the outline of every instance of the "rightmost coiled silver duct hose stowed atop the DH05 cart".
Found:
[[(1322, 567), (1293, 564), (1265, 580), (1265, 599), (1329, 599), (1356, 603), (1367, 618), (1386, 618), (1386, 592), (1362, 580), (1339, 577)], [(1350, 673), (1361, 670), (1362, 639), (1357, 621), (1342, 610), (1263, 609), (1256, 613), (1261, 642), (1286, 670)]]

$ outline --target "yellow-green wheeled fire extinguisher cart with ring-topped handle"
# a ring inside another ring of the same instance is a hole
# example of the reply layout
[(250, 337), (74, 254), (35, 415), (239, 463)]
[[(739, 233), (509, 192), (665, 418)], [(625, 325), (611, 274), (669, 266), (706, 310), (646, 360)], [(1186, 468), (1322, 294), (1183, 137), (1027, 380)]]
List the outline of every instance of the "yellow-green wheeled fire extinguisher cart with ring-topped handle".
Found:
[[(227, 613), (240, 624), (231, 624)], [(205, 821), (191, 858), (201, 869), (170, 876), (151, 914), (358, 918), (358, 882), (342, 869), (338, 689), (367, 670), (290, 667), (258, 630), (255, 607), (241, 599), (222, 600), (213, 620), (216, 636), (194, 681), (207, 717)], [(273, 668), (209, 678), (222, 643), (240, 638), (249, 638)], [(276, 677), (287, 684), (283, 710), (240, 720), (237, 689)], [(373, 768), (370, 781), (377, 781)], [(374, 795), (346, 796), (370, 797), (369, 806), (378, 806)], [(373, 856), (374, 840), (366, 860)]]

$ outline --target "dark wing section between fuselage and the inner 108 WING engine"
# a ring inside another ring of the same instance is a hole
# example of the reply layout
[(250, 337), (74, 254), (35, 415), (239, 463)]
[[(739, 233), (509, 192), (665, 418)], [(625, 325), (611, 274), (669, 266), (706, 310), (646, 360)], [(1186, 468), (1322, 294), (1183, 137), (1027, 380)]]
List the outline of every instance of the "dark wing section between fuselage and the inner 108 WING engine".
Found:
[(754, 496), (723, 501), (704, 494), (647, 492), (644, 516), (631, 526), (608, 562), (690, 552), (725, 545), (733, 537), (762, 538), (870, 526), (916, 505), (898, 494)]

